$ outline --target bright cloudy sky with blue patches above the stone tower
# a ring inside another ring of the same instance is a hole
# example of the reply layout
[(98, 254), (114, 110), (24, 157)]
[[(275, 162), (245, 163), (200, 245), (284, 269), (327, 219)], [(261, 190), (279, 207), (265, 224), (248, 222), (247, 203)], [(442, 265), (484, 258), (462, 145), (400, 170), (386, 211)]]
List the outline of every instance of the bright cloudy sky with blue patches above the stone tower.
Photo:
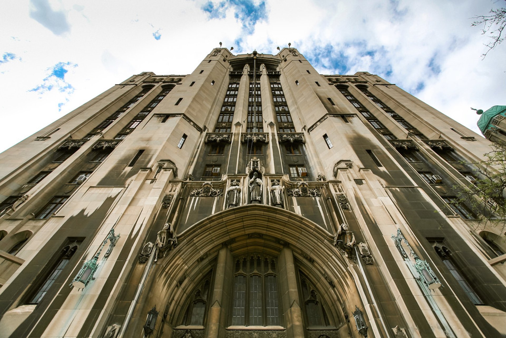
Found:
[(502, 0), (17, 0), (0, 5), (0, 151), (132, 74), (188, 74), (213, 48), (291, 43), (323, 74), (369, 71), (478, 131), (506, 104), (506, 43), (472, 17)]

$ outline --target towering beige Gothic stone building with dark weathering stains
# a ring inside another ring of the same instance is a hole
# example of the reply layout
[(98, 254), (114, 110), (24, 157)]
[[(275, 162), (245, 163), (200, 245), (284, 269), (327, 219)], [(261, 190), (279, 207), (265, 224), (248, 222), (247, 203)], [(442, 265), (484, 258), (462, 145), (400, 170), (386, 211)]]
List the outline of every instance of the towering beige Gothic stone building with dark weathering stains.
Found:
[(506, 335), (489, 149), (293, 48), (134, 75), (0, 154), (0, 336)]

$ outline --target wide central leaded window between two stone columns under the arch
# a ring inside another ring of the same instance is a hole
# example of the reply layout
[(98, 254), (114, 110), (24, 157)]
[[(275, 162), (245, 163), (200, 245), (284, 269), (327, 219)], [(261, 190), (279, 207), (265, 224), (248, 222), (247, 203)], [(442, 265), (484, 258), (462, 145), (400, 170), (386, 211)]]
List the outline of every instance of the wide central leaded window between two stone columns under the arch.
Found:
[(280, 325), (274, 258), (251, 254), (235, 259), (231, 325)]

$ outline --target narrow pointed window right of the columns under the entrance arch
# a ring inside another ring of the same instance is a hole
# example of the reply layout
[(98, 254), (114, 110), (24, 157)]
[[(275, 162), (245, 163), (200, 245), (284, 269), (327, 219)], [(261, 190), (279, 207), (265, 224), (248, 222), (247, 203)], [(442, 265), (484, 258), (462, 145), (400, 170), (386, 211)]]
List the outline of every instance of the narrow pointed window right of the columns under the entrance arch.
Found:
[(330, 325), (325, 308), (318, 295), (314, 284), (302, 271), (299, 271), (301, 281), (301, 303), (304, 304), (307, 326)]

